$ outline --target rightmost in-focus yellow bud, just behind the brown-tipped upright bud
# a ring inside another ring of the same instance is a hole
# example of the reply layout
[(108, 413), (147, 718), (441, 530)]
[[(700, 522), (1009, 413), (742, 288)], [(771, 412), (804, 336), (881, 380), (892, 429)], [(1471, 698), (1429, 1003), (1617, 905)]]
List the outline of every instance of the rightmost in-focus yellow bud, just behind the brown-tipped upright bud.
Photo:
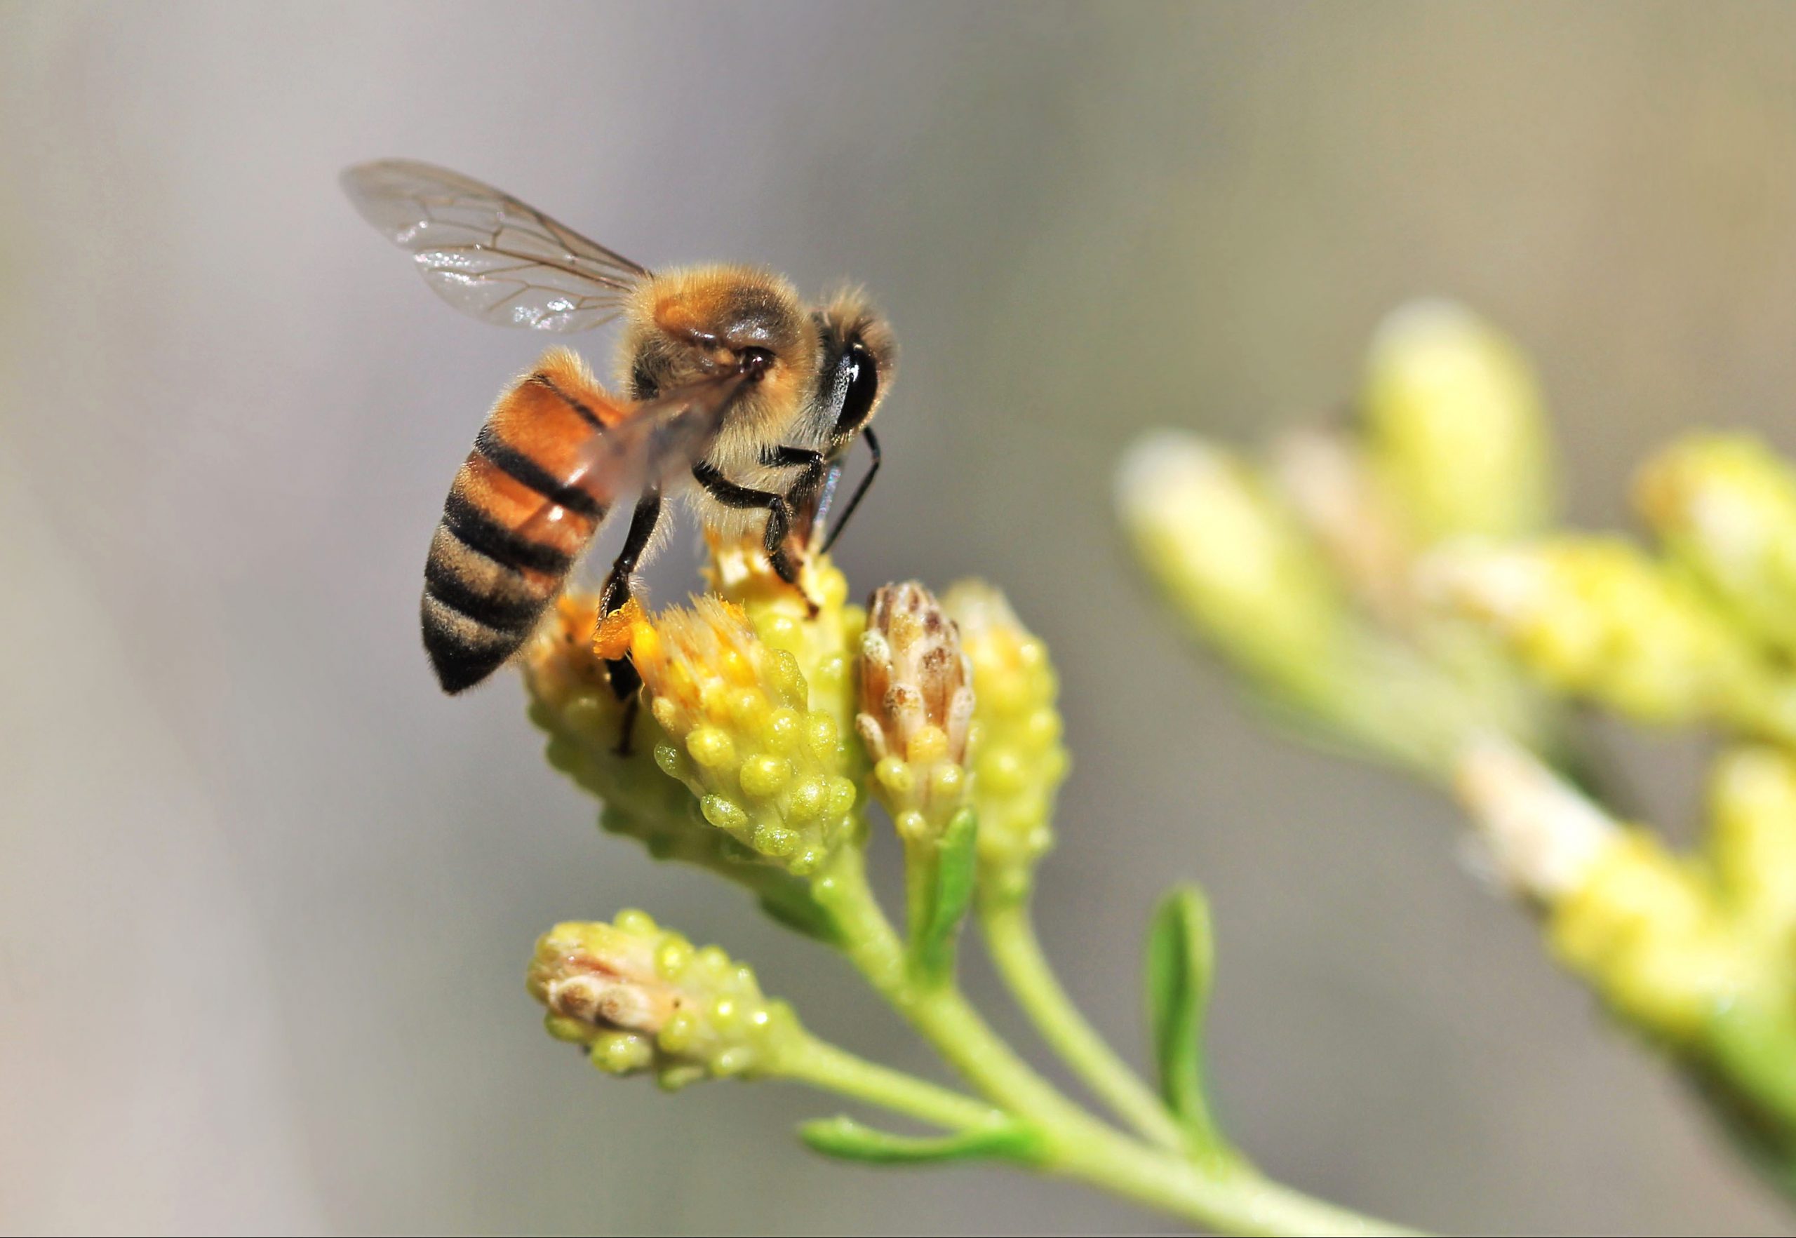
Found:
[(990, 584), (963, 580), (943, 609), (961, 631), (973, 668), (968, 760), (979, 812), (981, 889), (1027, 895), (1036, 862), (1054, 844), (1054, 796), (1067, 776), (1058, 679), (1047, 645)]

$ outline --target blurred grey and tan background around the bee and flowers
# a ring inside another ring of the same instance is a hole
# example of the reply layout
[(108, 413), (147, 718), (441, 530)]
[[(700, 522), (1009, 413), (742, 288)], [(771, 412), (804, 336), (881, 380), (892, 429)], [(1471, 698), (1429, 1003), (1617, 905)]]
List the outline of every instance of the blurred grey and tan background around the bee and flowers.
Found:
[[(1049, 949), (1135, 1053), (1149, 902), (1207, 884), (1214, 1089), (1272, 1173), (1455, 1231), (1787, 1225), (1449, 807), (1189, 654), (1110, 469), (1320, 415), (1422, 293), (1532, 350), (1579, 523), (1676, 428), (1796, 447), (1792, 66), (1778, 5), (0, 5), (0, 1225), (1158, 1225), (830, 1164), (790, 1137), (830, 1098), (666, 1098), (542, 1035), (535, 934), (641, 906), (932, 1069), (842, 967), (602, 837), (515, 681), (438, 695), (424, 548), (546, 341), (356, 217), (336, 174), (386, 155), (652, 266), (876, 293), (905, 354), (839, 561), (986, 575), (1049, 638)], [(1686, 818), (1676, 753), (1631, 751)]]

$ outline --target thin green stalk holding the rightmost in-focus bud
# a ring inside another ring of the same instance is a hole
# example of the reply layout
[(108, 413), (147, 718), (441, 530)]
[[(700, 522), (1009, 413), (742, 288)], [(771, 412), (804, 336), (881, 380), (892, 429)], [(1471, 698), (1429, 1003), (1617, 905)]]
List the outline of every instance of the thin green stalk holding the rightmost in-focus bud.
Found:
[(1180, 1152), (1185, 1132), (1160, 1098), (1105, 1044), (1067, 997), (1042, 954), (1034, 922), (1022, 898), (981, 898), (979, 927), (991, 961), (1036, 1031), (1110, 1110), (1148, 1141)]

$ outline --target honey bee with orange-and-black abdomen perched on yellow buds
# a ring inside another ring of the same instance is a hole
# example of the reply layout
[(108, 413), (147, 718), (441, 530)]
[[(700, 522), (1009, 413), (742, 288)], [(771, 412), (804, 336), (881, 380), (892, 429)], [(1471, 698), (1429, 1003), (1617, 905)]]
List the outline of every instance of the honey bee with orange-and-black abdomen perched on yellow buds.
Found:
[[(550, 349), (499, 395), (449, 487), (422, 602), (444, 692), (481, 683), (517, 652), (620, 500), (634, 496), (634, 508), (600, 615), (629, 602), (668, 501), (688, 498), (726, 534), (765, 521), (769, 562), (797, 584), (794, 548), (828, 550), (878, 473), (867, 422), (896, 347), (862, 293), (806, 307), (758, 268), (656, 273), (429, 164), (361, 164), (343, 187), (456, 309), (553, 332), (623, 320), (627, 395), (600, 386), (575, 352)], [(873, 464), (824, 537), (857, 438)], [(618, 695), (636, 690), (627, 661), (609, 670)]]

